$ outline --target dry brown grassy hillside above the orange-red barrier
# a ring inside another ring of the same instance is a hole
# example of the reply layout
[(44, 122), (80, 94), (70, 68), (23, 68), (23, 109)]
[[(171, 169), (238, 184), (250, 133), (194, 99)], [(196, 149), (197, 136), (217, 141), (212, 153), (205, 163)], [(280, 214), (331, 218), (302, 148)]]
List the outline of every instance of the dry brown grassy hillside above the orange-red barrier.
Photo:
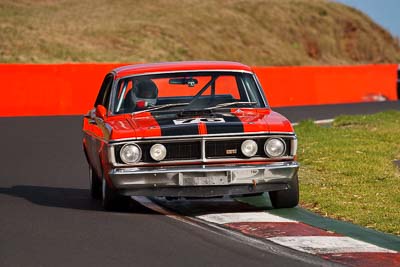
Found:
[(0, 62), (400, 61), (398, 40), (327, 0), (2, 0)]

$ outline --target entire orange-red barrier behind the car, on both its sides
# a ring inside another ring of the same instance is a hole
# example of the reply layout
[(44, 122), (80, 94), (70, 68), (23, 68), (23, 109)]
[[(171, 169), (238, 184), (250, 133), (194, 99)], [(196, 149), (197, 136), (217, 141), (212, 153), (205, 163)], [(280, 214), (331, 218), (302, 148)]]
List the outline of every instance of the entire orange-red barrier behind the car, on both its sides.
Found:
[[(0, 116), (78, 115), (125, 64), (0, 64)], [(397, 100), (397, 65), (254, 67), (272, 107)]]

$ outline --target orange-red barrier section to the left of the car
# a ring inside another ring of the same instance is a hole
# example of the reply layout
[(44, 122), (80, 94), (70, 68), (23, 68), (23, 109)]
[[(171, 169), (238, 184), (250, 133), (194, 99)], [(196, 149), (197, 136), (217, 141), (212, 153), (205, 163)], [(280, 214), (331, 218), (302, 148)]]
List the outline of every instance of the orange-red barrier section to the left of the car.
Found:
[(85, 114), (108, 71), (126, 64), (0, 64), (0, 116)]

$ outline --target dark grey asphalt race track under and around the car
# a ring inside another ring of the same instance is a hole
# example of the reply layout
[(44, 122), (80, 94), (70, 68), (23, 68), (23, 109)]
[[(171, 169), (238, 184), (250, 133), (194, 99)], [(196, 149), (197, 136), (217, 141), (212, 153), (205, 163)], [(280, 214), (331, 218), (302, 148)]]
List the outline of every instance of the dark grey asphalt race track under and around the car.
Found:
[[(389, 104), (380, 104), (380, 110), (399, 109), (397, 102)], [(318, 107), (280, 111), (295, 121), (344, 113), (343, 106), (328, 109), (335, 112), (325, 114)], [(0, 130), (0, 266), (311, 264), (144, 207), (102, 211), (89, 196), (80, 116), (1, 118)]]

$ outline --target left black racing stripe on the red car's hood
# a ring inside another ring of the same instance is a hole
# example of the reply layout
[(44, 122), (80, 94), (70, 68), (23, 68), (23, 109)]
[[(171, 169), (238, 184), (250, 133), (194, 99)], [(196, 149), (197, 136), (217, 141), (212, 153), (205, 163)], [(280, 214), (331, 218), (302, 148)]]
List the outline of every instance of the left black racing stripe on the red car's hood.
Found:
[(156, 115), (152, 113), (152, 115), (160, 126), (161, 136), (199, 134), (199, 127), (197, 123), (175, 125), (174, 120), (177, 119), (175, 114)]

